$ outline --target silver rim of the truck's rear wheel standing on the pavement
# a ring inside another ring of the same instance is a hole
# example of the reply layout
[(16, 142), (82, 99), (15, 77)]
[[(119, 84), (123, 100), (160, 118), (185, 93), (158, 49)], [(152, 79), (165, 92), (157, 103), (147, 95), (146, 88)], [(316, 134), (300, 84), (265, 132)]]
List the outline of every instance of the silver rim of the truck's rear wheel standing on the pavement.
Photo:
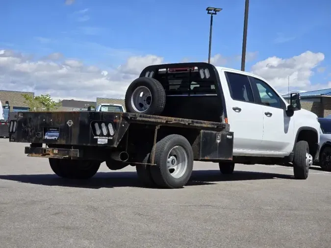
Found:
[(170, 150), (167, 160), (169, 173), (174, 178), (180, 178), (187, 170), (188, 156), (181, 146), (176, 146)]

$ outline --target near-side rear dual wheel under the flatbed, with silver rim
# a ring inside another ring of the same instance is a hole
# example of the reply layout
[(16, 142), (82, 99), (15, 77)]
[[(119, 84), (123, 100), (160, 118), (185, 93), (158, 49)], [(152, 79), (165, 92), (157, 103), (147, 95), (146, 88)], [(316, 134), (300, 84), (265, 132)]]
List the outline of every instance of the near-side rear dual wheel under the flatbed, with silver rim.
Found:
[(153, 182), (169, 189), (185, 186), (193, 171), (193, 150), (188, 140), (178, 134), (166, 136), (152, 149), (150, 161), (153, 150), (156, 164), (150, 166)]

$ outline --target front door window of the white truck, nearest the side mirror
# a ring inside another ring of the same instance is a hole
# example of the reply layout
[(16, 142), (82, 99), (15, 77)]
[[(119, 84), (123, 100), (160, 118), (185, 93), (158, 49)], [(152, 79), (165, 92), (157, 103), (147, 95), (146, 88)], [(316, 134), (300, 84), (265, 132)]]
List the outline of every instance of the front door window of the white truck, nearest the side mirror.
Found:
[(252, 78), (252, 83), (256, 85), (261, 103), (271, 107), (281, 108), (280, 98), (276, 92), (265, 82), (255, 77)]

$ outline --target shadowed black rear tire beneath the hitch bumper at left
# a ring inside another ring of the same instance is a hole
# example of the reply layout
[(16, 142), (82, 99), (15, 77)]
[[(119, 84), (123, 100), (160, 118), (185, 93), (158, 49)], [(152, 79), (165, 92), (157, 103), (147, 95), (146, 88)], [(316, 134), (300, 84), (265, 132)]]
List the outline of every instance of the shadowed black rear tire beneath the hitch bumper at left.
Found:
[(98, 172), (101, 162), (56, 158), (51, 160), (50, 158), (50, 165), (53, 172), (60, 177), (70, 179), (89, 179)]

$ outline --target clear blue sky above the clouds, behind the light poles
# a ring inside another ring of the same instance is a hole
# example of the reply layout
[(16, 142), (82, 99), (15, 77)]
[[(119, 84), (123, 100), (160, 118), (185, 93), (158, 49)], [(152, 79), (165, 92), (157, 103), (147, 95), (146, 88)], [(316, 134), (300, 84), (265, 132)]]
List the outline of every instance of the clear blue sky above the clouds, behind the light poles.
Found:
[[(212, 55), (221, 54), (225, 66), (240, 69), (244, 5), (244, 0), (5, 1), (0, 49), (39, 57), (61, 52), (102, 68), (146, 54), (165, 62), (203, 61), (210, 21), (205, 8), (215, 6), (223, 10), (214, 17)], [(329, 0), (251, 0), (247, 51), (258, 53), (246, 68), (268, 57), (310, 50), (325, 56), (313, 69), (324, 68), (311, 77), (312, 84), (331, 81), (330, 13)]]

